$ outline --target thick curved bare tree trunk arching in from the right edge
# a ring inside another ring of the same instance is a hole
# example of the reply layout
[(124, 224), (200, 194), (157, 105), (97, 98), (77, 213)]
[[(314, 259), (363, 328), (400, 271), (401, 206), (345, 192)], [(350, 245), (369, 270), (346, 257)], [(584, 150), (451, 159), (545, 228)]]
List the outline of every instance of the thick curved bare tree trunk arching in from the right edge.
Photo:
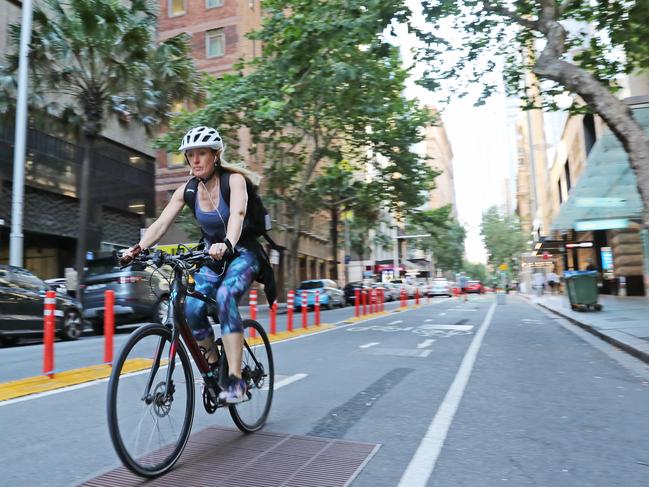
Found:
[(649, 137), (633, 118), (628, 105), (589, 71), (560, 58), (565, 51), (566, 32), (563, 26), (552, 20), (541, 25), (548, 42), (536, 62), (534, 73), (540, 78), (556, 81), (583, 98), (622, 143), (637, 178), (644, 227), (649, 228)]

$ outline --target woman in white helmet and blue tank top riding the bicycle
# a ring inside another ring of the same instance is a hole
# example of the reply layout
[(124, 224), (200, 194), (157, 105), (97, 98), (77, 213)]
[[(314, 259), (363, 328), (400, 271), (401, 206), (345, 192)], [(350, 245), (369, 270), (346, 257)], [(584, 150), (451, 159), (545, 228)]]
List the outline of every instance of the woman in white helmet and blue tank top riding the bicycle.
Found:
[[(195, 208), (192, 210), (195, 210), (206, 248), (216, 261), (228, 260), (227, 266), (203, 266), (194, 278), (195, 290), (215, 299), (218, 305), (217, 316), (230, 372), (228, 384), (222, 384), (224, 390), (219, 397), (228, 403), (238, 403), (246, 397), (246, 383), (241, 378), (243, 326), (238, 302), (260, 273), (268, 275), (270, 271), (272, 275), (272, 269), (257, 240), (242, 236), (248, 203), (246, 179), (257, 185), (260, 177), (224, 161), (223, 149), (223, 141), (216, 129), (194, 127), (183, 137), (179, 151), (185, 155), (185, 161), (191, 169), (190, 174), (199, 181)], [(229, 204), (221, 197), (219, 186), (222, 171), (230, 173)], [(164, 236), (185, 205), (184, 194), (188, 182), (176, 189), (160, 217), (144, 232), (140, 242), (127, 249), (123, 256), (132, 258), (142, 249), (155, 245)], [(269, 283), (265, 284), (269, 303), (272, 304), (274, 292), (271, 290), (269, 293)], [(187, 298), (187, 322), (204, 350), (205, 358), (212, 365), (216, 361), (217, 352), (207, 312), (205, 302)]]

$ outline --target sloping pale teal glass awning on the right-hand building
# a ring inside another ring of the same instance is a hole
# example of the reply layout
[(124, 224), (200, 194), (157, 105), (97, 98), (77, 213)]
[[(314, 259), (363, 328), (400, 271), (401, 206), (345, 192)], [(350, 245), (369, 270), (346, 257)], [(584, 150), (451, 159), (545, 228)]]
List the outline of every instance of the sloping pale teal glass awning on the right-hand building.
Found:
[[(633, 108), (633, 116), (649, 134), (649, 107)], [(629, 157), (606, 129), (597, 140), (577, 184), (561, 205), (552, 230), (626, 228), (642, 218), (642, 200)]]

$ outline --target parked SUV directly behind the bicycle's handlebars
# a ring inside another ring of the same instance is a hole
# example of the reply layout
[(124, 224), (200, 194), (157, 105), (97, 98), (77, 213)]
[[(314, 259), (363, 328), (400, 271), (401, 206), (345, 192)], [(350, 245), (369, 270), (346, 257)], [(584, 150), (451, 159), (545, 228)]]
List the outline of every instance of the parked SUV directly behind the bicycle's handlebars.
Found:
[[(136, 264), (137, 266), (137, 264)], [(104, 295), (115, 292), (115, 324), (163, 322), (169, 311), (168, 271), (116, 266), (113, 256), (88, 261), (81, 292), (83, 316), (97, 335), (104, 332)]]

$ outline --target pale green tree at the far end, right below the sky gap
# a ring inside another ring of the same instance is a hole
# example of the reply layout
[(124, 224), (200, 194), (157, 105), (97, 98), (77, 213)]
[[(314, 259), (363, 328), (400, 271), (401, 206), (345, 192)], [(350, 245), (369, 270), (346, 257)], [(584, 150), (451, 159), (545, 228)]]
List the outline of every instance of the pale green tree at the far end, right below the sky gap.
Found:
[(518, 218), (503, 214), (496, 206), (482, 214), (480, 234), (487, 248), (488, 262), (494, 269), (501, 264), (511, 266), (526, 249)]

